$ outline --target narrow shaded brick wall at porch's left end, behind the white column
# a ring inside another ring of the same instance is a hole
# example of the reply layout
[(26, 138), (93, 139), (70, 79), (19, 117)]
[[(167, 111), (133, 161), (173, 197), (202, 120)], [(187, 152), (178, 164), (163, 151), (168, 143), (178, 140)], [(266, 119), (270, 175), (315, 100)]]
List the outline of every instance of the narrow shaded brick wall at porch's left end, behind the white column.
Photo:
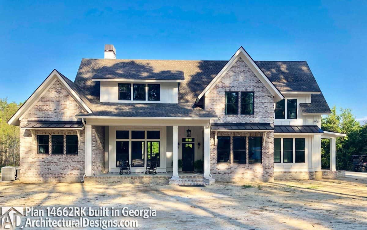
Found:
[(92, 126), (92, 173), (105, 172), (105, 127)]

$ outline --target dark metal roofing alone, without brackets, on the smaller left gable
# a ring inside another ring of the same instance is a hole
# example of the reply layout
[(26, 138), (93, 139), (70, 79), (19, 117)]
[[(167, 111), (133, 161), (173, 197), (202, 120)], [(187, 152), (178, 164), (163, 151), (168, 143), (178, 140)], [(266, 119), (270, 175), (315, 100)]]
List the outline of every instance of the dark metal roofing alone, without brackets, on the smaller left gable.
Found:
[(29, 129), (82, 129), (84, 127), (81, 121), (73, 120), (28, 120), (22, 128)]

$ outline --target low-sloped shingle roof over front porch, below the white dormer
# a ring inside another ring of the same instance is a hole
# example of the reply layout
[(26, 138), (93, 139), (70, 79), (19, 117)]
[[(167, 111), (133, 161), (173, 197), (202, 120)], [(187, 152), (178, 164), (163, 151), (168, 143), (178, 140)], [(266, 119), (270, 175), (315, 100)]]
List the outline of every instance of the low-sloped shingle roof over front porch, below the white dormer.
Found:
[(191, 117), (216, 118), (214, 111), (191, 108), (190, 104), (163, 103), (100, 103), (94, 101), (93, 113), (80, 112), (77, 116), (121, 116), (121, 117)]

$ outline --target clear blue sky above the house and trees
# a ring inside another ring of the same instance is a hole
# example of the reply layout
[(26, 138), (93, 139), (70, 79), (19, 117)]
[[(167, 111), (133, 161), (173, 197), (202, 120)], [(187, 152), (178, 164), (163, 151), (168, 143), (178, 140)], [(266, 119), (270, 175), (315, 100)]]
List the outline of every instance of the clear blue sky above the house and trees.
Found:
[[(299, 2), (299, 3), (297, 3)], [(335, 3), (337, 2), (337, 3)], [(1, 1), (0, 98), (25, 101), (81, 58), (306, 60), (330, 107), (367, 119), (366, 1)]]

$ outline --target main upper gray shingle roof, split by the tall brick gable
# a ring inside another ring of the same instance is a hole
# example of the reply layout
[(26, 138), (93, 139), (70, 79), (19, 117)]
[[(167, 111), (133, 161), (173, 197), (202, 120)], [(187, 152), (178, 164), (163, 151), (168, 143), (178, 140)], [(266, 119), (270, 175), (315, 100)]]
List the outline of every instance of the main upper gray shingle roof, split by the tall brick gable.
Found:
[[(82, 59), (75, 78), (75, 84), (83, 90), (90, 100), (99, 101), (100, 82), (92, 81), (92, 78), (103, 78), (104, 75), (117, 76), (122, 73), (132, 72), (130, 75), (141, 77), (141, 79), (147, 79), (149, 78), (148, 76), (157, 77), (157, 73), (166, 75), (166, 79), (170, 75), (176, 79), (179, 74), (183, 73), (185, 80), (179, 83), (178, 103), (192, 106), (196, 97), (199, 96), (227, 62), (206, 60)], [(255, 61), (255, 63), (280, 91), (320, 91), (315, 77), (313, 77), (305, 61)], [(312, 97), (312, 99), (312, 106), (308, 105), (310, 108), (330, 111), (323, 96)], [(149, 105), (152, 108), (156, 106), (153, 104)], [(185, 108), (188, 107), (185, 106)], [(93, 108), (91, 109), (93, 110)]]

